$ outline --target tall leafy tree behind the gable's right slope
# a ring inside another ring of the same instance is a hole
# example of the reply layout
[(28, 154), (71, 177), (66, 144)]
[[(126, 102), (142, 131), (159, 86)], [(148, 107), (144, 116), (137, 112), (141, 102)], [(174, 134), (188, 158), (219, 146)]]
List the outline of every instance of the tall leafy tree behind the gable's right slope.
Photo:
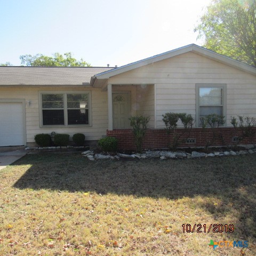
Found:
[(207, 49), (256, 66), (255, 0), (212, 0), (195, 31)]

